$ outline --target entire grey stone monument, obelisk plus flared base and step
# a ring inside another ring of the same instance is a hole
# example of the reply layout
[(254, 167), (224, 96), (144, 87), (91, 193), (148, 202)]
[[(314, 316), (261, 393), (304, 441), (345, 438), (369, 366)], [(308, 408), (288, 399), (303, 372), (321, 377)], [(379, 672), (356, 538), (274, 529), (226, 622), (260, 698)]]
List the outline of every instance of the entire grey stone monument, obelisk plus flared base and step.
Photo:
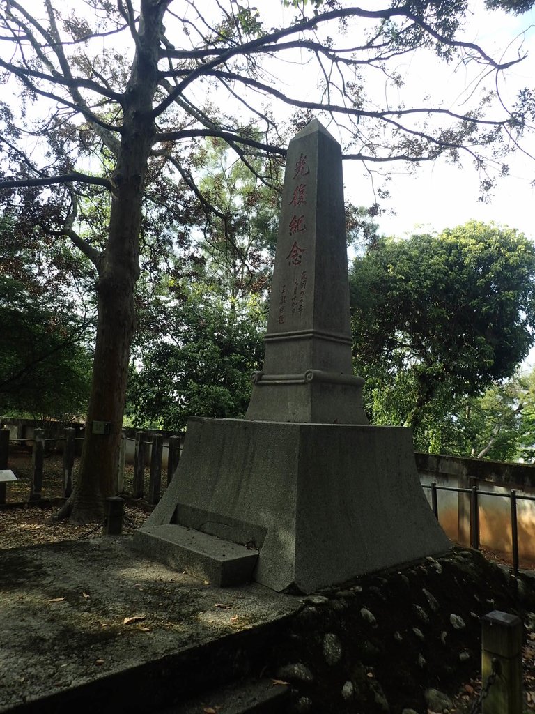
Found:
[(352, 371), (340, 146), (319, 121), (288, 146), (265, 364), (245, 419), (195, 418), (134, 533), (210, 580), (310, 593), (450, 546), (412, 432), (369, 426)]

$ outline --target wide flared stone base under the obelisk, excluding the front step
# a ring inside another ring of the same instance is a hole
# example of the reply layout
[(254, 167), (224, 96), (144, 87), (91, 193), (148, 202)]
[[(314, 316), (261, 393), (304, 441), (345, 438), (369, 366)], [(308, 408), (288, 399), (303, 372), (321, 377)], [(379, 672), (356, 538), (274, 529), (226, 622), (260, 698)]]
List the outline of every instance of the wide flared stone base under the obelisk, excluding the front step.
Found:
[(158, 558), (151, 531), (168, 523), (259, 550), (253, 578), (278, 591), (310, 593), (450, 547), (412, 433), (397, 427), (192, 420), (136, 548)]

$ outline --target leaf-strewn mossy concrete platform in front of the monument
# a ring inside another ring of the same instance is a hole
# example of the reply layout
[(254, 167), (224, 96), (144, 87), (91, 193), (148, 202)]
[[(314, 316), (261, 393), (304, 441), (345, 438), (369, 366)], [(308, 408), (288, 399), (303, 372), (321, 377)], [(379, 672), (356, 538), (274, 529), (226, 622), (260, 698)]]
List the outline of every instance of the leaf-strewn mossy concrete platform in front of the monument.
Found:
[(126, 535), (4, 550), (0, 712), (164, 709), (247, 676), (301, 606), (177, 573)]

